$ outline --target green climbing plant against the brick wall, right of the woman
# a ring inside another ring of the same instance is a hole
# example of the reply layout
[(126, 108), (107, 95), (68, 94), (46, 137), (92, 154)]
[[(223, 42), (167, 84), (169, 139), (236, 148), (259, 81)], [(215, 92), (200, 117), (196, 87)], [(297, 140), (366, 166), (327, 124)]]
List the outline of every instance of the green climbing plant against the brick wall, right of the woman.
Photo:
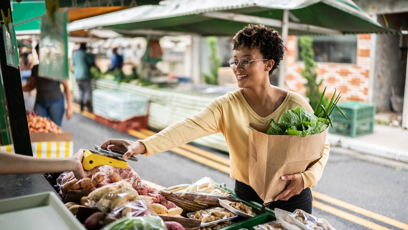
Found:
[[(322, 93), (319, 91), (320, 85), (322, 85), (323, 79), (317, 82), (317, 65), (315, 63), (315, 52), (313, 51), (313, 39), (310, 36), (301, 36), (299, 39), (300, 56), (305, 64), (305, 69), (301, 71), (301, 74), (306, 78), (306, 97), (309, 98), (309, 104), (312, 108), (316, 108), (319, 104), (320, 96)], [(327, 104), (328, 99), (324, 97), (323, 104)]]

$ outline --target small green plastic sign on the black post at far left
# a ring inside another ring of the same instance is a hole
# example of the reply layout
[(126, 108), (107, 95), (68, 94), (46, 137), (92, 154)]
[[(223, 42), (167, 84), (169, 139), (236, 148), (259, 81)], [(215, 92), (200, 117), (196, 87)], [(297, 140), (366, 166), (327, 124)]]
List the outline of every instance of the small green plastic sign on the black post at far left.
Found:
[(4, 49), (6, 50), (7, 65), (18, 69), (20, 61), (18, 59), (16, 33), (14, 32), (13, 23), (9, 22), (9, 31), (3, 26)]

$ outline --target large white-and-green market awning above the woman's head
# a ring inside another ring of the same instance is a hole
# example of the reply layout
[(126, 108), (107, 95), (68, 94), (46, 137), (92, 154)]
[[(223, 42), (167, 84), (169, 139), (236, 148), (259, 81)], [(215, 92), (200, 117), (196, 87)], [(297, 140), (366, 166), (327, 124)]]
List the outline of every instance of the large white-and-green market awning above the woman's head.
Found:
[(289, 10), (289, 34), (390, 33), (350, 0), (165, 0), (72, 22), (69, 31), (109, 28), (125, 35), (150, 30), (235, 35), (248, 23), (282, 30)]

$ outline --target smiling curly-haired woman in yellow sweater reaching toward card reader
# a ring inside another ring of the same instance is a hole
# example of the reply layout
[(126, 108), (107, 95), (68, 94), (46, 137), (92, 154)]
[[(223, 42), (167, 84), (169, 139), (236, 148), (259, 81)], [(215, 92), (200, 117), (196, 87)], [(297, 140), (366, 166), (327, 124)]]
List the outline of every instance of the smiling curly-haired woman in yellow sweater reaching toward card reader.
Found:
[[(279, 66), (284, 56), (283, 41), (274, 29), (263, 25), (248, 25), (233, 39), (234, 58), (229, 61), (240, 89), (217, 97), (197, 115), (177, 122), (160, 133), (137, 142), (109, 139), (102, 144), (131, 155), (152, 155), (170, 150), (199, 137), (221, 132), (228, 144), (231, 177), (236, 179), (235, 192), (244, 200), (262, 203), (249, 185), (248, 128), (250, 122), (268, 124), (271, 118), (279, 120), (283, 113), (297, 106), (313, 109), (299, 94), (269, 84), (269, 75)], [(279, 148), (279, 146), (277, 146)], [(282, 175), (290, 180), (286, 190), (275, 197), (270, 208), (293, 212), (300, 208), (312, 212), (310, 188), (316, 186), (327, 162), (329, 144), (323, 157), (304, 173)]]

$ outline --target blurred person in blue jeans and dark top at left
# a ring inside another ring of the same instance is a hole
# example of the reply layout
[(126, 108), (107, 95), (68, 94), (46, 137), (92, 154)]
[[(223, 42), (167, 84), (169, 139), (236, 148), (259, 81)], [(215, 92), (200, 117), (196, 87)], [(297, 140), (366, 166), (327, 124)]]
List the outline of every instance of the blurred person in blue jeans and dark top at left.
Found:
[[(35, 51), (39, 54), (38, 45)], [(39, 56), (39, 55), (38, 55)], [(64, 86), (65, 97), (62, 94), (60, 84)], [(33, 66), (29, 83), (23, 87), (23, 91), (37, 89), (34, 111), (41, 117), (49, 117), (55, 124), (62, 127), (62, 117), (65, 112), (65, 98), (67, 99), (67, 119), (72, 117), (72, 96), (68, 81), (58, 81), (38, 75), (38, 65)]]

